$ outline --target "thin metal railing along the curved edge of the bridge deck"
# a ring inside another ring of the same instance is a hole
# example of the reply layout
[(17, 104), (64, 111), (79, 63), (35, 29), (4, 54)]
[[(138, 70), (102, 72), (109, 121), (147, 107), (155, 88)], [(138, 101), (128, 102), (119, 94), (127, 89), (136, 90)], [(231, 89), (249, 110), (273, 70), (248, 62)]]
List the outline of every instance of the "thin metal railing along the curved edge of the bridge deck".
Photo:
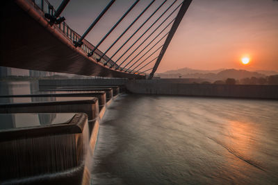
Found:
[[(47, 0), (32, 0), (32, 2), (34, 4), (35, 8), (40, 9), (44, 13), (49, 13), (50, 15), (54, 15), (56, 12), (54, 7)], [(79, 38), (81, 37), (81, 35), (79, 35), (74, 30), (72, 30), (72, 28), (70, 28), (70, 26), (68, 26), (65, 23), (65, 21), (56, 25), (56, 27), (59, 28), (61, 33), (63, 33), (72, 42), (74, 42), (74, 41), (77, 42), (79, 40)], [(88, 42), (86, 39), (84, 39), (81, 49), (85, 53), (90, 53), (93, 49), (95, 49), (95, 46), (92, 45), (90, 42)], [(101, 55), (103, 55), (103, 54), (104, 53), (102, 53), (99, 49), (96, 49), (92, 55), (92, 58), (94, 58), (95, 60), (98, 60), (99, 58), (101, 58)], [(109, 61), (109, 58), (106, 55), (104, 55), (104, 57), (101, 58), (99, 62), (101, 62), (101, 64), (105, 64), (106, 62), (108, 62), (108, 67), (111, 67), (114, 64), (113, 60)], [(117, 66), (113, 65), (113, 69), (116, 69), (116, 68), (117, 68)]]

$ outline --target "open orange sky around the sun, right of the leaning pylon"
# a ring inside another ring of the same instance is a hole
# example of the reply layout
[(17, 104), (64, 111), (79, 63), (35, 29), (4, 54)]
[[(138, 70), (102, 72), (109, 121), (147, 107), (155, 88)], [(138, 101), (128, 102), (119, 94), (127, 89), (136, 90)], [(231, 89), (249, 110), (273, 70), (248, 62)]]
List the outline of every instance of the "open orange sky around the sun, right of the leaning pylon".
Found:
[(193, 0), (158, 72), (182, 67), (278, 71), (278, 2)]

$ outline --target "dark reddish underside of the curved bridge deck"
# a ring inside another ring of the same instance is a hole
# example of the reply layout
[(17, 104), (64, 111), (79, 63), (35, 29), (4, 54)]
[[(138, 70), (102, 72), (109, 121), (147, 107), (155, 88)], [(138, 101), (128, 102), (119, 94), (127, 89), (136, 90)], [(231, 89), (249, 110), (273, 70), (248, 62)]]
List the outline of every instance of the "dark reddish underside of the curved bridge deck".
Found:
[(24, 1), (6, 1), (1, 7), (1, 20), (0, 66), (85, 76), (145, 78), (109, 69), (88, 58)]

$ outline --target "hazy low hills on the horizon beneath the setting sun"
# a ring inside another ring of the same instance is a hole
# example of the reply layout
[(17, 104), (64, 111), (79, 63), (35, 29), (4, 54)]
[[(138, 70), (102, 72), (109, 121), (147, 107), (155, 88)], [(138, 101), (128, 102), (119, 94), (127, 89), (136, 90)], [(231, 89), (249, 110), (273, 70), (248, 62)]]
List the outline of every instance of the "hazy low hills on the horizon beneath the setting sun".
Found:
[(246, 71), (238, 69), (218, 69), (218, 70), (195, 70), (189, 68), (177, 69), (172, 71), (166, 71), (165, 73), (159, 73), (161, 78), (206, 78), (208, 80), (225, 80), (227, 78), (261, 78), (268, 76), (266, 74), (273, 74), (275, 71), (264, 71), (259, 73), (257, 71)]

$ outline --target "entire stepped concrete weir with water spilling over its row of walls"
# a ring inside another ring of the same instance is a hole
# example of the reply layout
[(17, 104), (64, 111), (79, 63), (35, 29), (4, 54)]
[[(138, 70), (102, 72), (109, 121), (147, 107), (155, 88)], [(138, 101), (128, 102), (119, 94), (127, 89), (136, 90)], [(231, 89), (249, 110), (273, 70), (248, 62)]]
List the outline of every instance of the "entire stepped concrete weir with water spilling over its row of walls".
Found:
[(99, 121), (119, 87), (82, 88), (0, 95), (1, 183), (90, 184)]

